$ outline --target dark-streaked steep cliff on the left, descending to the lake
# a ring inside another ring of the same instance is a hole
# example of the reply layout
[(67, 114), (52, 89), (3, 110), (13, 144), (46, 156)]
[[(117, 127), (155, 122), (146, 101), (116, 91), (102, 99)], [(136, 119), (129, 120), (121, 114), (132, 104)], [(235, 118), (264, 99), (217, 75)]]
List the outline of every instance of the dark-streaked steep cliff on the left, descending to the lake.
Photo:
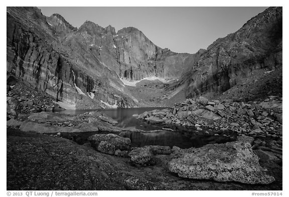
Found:
[(77, 60), (61, 44), (57, 31), (73, 34), (76, 29), (59, 19), (48, 24), (37, 8), (7, 8), (7, 71), (76, 108), (136, 106), (123, 94), (121, 82), (107, 79), (108, 68), (99, 61)]

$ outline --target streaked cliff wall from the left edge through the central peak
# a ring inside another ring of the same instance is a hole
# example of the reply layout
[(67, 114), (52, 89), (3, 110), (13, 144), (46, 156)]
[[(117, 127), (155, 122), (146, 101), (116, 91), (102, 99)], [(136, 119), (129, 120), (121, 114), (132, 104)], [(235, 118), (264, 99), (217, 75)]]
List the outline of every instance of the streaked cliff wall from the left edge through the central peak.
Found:
[(7, 71), (76, 108), (137, 106), (123, 80), (174, 79), (199, 56), (161, 49), (135, 28), (77, 30), (59, 14), (7, 8)]

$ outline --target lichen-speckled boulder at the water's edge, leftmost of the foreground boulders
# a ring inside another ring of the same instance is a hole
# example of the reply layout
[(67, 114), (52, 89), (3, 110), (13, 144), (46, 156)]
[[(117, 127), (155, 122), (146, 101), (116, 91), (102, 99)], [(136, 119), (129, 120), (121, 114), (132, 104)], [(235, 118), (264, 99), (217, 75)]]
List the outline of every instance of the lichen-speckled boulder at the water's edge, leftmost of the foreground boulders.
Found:
[(88, 137), (88, 140), (93, 147), (97, 149), (101, 141), (107, 141), (112, 144), (115, 149), (128, 150), (131, 145), (131, 140), (126, 137), (120, 137), (112, 133), (109, 134), (95, 134)]

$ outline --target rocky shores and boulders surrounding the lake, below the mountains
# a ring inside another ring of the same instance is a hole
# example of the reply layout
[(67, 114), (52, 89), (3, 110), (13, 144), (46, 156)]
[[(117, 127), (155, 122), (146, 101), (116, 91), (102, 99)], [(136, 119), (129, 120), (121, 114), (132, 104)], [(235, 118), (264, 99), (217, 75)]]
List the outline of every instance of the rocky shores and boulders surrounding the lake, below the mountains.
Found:
[[(192, 132), (211, 127), (239, 135), (188, 149), (131, 147), (130, 138), (121, 136), (125, 130), (99, 112), (19, 113), (7, 121), (7, 189), (281, 190), (281, 104), (277, 97), (251, 104), (201, 97), (138, 116), (184, 126), (190, 121)], [(115, 131), (119, 135), (109, 133)], [(92, 134), (79, 145), (60, 137), (69, 132)]]

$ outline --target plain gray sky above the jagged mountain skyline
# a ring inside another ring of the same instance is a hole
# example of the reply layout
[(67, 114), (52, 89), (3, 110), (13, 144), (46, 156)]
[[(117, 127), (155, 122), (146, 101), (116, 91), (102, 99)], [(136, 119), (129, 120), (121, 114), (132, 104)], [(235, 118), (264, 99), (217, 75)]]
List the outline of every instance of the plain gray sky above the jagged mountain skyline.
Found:
[(161, 48), (196, 53), (240, 29), (267, 7), (39, 7), (58, 13), (74, 27), (86, 20), (115, 31), (135, 27)]

